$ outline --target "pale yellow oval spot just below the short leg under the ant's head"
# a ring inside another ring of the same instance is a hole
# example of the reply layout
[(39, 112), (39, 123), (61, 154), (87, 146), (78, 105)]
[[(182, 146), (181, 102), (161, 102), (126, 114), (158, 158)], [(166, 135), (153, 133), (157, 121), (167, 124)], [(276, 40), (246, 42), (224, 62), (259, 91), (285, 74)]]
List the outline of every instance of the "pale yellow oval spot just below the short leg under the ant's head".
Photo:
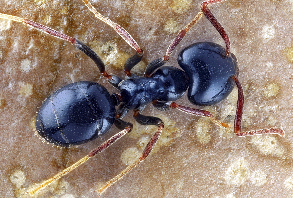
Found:
[(196, 123), (196, 136), (201, 144), (207, 144), (211, 140), (211, 121), (207, 118), (201, 118)]

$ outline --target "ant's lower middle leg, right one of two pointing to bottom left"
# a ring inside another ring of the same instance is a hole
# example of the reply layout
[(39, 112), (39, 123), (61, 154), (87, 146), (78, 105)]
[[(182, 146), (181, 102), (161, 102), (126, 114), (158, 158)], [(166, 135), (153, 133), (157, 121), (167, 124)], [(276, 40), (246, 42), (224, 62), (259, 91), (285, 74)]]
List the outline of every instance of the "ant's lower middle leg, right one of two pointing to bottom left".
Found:
[(156, 125), (156, 126), (158, 126), (158, 129), (154, 133), (154, 135), (151, 137), (151, 139), (150, 139), (149, 143), (147, 144), (147, 146), (144, 148), (144, 151), (140, 155), (139, 159), (137, 159), (132, 165), (130, 165), (127, 168), (125, 168), (119, 175), (117, 175), (113, 179), (109, 180), (100, 190), (98, 190), (99, 196), (108, 187), (110, 187), (115, 182), (120, 180), (130, 170), (132, 170), (134, 167), (139, 165), (145, 158), (147, 158), (147, 156), (149, 155), (149, 153), (151, 153), (151, 150), (154, 148), (154, 145), (156, 144), (156, 142), (158, 141), (158, 139), (159, 139), (159, 137), (161, 135), (161, 132), (162, 132), (163, 127), (164, 127), (164, 123), (163, 123), (163, 121), (161, 119), (156, 118), (156, 117), (152, 117), (152, 116), (141, 115), (141, 114), (139, 114), (139, 110), (133, 110), (133, 111), (134, 111), (133, 117), (138, 123), (140, 123), (142, 125)]

